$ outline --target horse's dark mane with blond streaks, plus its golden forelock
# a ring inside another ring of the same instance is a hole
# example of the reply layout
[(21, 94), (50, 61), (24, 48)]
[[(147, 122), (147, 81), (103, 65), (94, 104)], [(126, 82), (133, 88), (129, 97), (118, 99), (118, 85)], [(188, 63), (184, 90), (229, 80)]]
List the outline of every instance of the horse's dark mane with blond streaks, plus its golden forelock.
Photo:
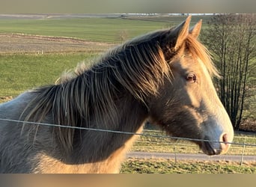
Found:
[[(118, 99), (128, 91), (147, 107), (147, 96), (156, 96), (164, 80), (171, 79), (166, 51), (159, 43), (166, 32), (137, 37), (107, 52), (91, 68), (80, 65), (55, 85), (35, 89), (36, 96), (25, 108), (25, 120), (43, 122), (52, 114), (52, 123), (59, 125), (116, 129)], [(211, 75), (218, 75), (209, 52), (198, 40), (189, 35), (185, 45), (201, 58)], [(171, 58), (177, 55), (169, 53)], [(55, 127), (53, 131), (64, 150), (72, 150), (75, 129)]]

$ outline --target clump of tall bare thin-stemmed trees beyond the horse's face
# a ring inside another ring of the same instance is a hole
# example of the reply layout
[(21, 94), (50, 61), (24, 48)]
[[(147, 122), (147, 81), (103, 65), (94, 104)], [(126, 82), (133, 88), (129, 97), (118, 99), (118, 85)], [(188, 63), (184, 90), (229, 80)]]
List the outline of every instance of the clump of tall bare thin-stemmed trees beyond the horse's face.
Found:
[(214, 15), (202, 40), (222, 79), (216, 87), (234, 129), (240, 129), (250, 71), (256, 63), (256, 14)]

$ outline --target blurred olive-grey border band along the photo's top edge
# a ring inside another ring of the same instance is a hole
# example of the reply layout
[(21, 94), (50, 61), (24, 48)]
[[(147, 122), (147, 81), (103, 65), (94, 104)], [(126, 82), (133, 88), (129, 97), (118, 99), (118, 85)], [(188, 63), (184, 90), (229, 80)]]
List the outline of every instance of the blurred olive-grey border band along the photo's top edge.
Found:
[(0, 13), (255, 13), (255, 0), (1, 0)]

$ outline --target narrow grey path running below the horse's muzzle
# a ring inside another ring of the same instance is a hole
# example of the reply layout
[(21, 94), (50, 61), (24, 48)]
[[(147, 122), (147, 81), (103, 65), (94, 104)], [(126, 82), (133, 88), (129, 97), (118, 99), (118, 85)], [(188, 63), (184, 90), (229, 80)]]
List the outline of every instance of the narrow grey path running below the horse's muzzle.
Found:
[[(182, 154), (177, 153), (147, 153), (147, 152), (130, 152), (127, 158), (138, 159), (177, 159), (177, 160), (200, 160), (200, 161), (232, 161), (241, 162), (242, 156), (237, 155), (219, 155), (207, 156), (204, 154)], [(243, 161), (256, 162), (256, 156), (244, 156)]]

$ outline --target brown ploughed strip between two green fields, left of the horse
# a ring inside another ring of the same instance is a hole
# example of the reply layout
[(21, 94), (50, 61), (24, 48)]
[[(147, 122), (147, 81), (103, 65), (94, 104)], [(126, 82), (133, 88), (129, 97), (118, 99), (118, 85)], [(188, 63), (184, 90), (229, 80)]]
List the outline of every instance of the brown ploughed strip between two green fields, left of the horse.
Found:
[(110, 43), (92, 42), (70, 37), (47, 37), (29, 34), (0, 34), (0, 54), (105, 51)]

